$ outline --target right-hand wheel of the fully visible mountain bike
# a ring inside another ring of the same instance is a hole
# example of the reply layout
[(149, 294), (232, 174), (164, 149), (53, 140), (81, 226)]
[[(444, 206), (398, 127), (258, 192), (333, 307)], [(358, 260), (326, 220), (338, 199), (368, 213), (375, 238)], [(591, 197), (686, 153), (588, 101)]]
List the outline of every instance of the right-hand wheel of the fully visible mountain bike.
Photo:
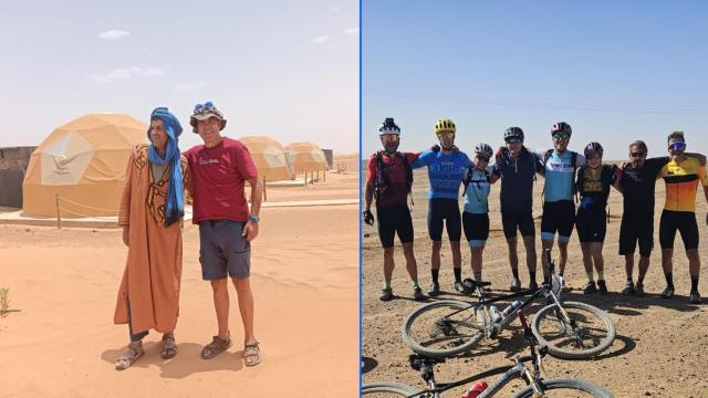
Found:
[(598, 355), (615, 339), (615, 323), (596, 306), (564, 302), (563, 308), (573, 324), (564, 322), (555, 304), (545, 306), (533, 317), (531, 327), (549, 353), (563, 359), (584, 359)]

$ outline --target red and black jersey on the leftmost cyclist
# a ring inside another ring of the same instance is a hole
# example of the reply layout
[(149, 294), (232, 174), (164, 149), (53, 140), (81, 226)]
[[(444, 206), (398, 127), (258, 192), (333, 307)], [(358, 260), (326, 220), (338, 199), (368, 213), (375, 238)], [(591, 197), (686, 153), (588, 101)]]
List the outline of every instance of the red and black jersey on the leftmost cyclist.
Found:
[[(413, 164), (420, 154), (400, 153), (408, 159), (408, 164)], [(388, 205), (406, 205), (408, 199), (408, 182), (406, 181), (406, 166), (399, 156), (387, 156), (382, 153), (384, 166), (391, 185), (386, 187), (378, 196), (377, 207)], [(373, 185), (378, 171), (378, 163), (376, 154), (368, 159), (368, 172), (366, 174), (366, 184)]]

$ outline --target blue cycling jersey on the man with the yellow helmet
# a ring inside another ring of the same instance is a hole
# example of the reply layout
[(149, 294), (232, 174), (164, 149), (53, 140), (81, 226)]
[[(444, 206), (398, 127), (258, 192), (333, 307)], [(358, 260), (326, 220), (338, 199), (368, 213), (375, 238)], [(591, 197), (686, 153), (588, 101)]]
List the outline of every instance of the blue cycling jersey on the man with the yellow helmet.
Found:
[(430, 189), (428, 198), (458, 199), (465, 169), (471, 161), (465, 153), (456, 150), (449, 155), (442, 151), (426, 150), (410, 166), (420, 168), (428, 166)]

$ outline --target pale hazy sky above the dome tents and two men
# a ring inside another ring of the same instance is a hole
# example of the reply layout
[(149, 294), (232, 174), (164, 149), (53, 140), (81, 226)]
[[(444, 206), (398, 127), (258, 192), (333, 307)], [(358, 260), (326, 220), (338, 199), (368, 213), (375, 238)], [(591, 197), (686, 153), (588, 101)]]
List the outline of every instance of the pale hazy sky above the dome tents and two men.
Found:
[(0, 32), (0, 147), (96, 112), (188, 127), (211, 100), (231, 137), (358, 148), (356, 0), (3, 1)]

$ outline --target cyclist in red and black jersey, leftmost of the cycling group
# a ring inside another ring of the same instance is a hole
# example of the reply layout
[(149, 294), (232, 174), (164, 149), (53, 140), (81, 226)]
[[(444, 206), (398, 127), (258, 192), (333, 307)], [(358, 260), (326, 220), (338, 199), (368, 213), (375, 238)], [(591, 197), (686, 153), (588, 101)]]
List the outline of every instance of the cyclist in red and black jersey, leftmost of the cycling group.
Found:
[(384, 289), (381, 300), (393, 300), (391, 277), (394, 273), (394, 238), (403, 245), (406, 258), (406, 269), (413, 282), (415, 300), (424, 300), (425, 296), (418, 286), (418, 265), (413, 253), (413, 220), (408, 209), (408, 193), (413, 182), (413, 169), (410, 164), (418, 154), (402, 154), (398, 151), (400, 144), (400, 128), (394, 123), (393, 117), (387, 117), (378, 129), (384, 150), (374, 154), (368, 160), (368, 174), (366, 176), (366, 190), (364, 199), (366, 210), (364, 222), (374, 224), (374, 216), (371, 212), (372, 200), (376, 198), (376, 220), (378, 221), (378, 238), (384, 247)]

